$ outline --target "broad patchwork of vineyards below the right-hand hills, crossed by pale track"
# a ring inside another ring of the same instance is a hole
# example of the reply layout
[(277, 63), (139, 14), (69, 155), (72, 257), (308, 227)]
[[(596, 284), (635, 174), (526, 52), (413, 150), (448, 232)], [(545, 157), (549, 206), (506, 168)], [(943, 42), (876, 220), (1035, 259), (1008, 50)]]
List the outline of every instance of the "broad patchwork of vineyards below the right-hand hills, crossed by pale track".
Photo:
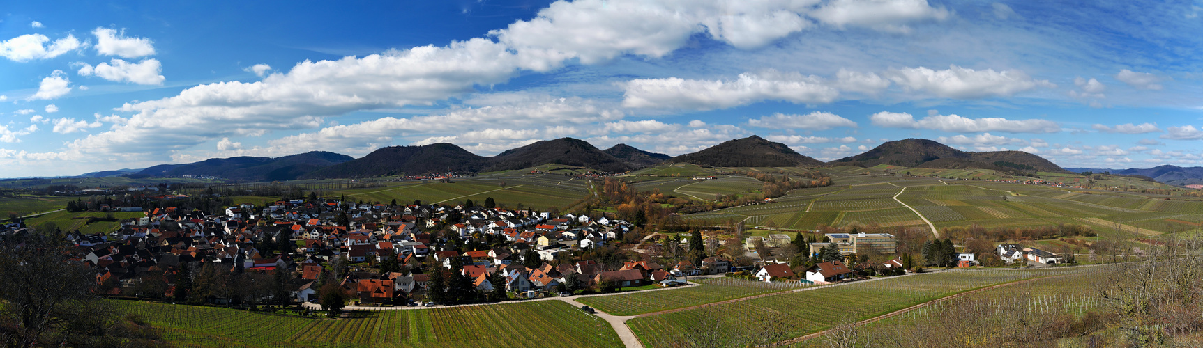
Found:
[[(1090, 226), (1103, 236), (1132, 233), (1158, 235), (1197, 230), (1203, 226), (1203, 199), (1198, 198), (1167, 196), (1165, 192), (1118, 192), (985, 181), (1001, 178), (997, 173), (991, 174), (995, 176), (985, 175), (991, 173), (985, 169), (920, 169), (895, 166), (819, 168), (819, 172), (831, 175), (835, 185), (794, 190), (776, 198), (774, 204), (736, 206), (682, 218), (743, 221), (749, 227), (759, 228), (814, 229), (820, 224), (845, 227), (852, 223), (925, 227), (926, 223), (919, 217), (921, 215), (936, 228), (971, 224), (985, 228), (1026, 228), (1073, 223)], [(940, 174), (948, 179), (897, 175), (907, 170), (915, 175)], [(1062, 181), (1084, 178), (1048, 174), (1048, 179)], [(1127, 182), (1130, 179), (1108, 178), (1095, 181)], [(693, 190), (694, 186), (682, 190)], [(894, 200), (895, 196), (919, 215)]]

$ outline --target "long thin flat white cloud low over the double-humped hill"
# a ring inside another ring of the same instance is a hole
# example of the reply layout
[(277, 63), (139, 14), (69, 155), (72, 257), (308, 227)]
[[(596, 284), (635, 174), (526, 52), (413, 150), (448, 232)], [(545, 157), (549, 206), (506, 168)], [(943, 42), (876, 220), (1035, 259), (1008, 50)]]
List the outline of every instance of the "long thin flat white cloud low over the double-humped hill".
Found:
[(908, 113), (881, 112), (869, 116), (869, 120), (881, 127), (923, 128), (944, 132), (977, 133), (1055, 133), (1061, 131), (1054, 121), (1042, 119), (1009, 120), (1003, 118), (970, 119), (959, 115), (930, 115), (914, 120)]

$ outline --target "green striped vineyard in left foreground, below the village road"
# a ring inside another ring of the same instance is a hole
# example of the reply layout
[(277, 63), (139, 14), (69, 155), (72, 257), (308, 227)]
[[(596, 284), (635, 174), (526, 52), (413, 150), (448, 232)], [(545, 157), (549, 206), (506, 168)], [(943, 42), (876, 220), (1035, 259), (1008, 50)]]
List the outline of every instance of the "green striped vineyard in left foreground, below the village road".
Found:
[(354, 312), (325, 319), (114, 301), (176, 347), (621, 347), (609, 323), (562, 301)]

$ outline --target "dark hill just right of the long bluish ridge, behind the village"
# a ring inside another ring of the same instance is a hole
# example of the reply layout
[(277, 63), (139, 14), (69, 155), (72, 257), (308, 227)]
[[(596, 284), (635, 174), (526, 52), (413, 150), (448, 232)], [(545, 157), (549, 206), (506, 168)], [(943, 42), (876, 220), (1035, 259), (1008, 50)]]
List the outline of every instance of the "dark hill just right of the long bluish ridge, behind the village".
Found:
[(389, 146), (367, 156), (330, 166), (303, 178), (365, 178), (397, 174), (427, 174), (446, 172), (480, 172), (490, 158), (476, 156), (455, 144), (438, 143), (421, 146)]

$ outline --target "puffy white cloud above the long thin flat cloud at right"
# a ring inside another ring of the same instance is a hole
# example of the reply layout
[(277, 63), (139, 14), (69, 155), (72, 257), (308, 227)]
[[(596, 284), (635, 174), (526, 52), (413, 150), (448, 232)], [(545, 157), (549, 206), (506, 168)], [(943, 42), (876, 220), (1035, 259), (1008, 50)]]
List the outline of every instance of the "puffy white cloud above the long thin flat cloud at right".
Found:
[(948, 70), (907, 67), (890, 70), (887, 77), (908, 91), (929, 92), (946, 98), (1013, 96), (1037, 86), (1056, 86), (1037, 80), (1019, 70), (972, 70), (952, 65)]

